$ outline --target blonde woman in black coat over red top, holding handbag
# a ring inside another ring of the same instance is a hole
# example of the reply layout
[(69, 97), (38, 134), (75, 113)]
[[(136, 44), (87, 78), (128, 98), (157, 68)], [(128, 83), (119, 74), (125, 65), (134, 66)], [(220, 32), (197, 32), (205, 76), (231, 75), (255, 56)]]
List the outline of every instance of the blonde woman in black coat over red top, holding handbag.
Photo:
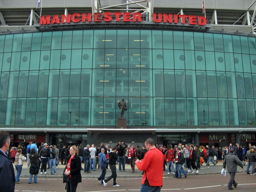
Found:
[(66, 182), (67, 192), (76, 192), (77, 184), (82, 182), (81, 160), (78, 156), (78, 149), (75, 145), (69, 148), (70, 155), (67, 157), (65, 175), (69, 175), (69, 181)]

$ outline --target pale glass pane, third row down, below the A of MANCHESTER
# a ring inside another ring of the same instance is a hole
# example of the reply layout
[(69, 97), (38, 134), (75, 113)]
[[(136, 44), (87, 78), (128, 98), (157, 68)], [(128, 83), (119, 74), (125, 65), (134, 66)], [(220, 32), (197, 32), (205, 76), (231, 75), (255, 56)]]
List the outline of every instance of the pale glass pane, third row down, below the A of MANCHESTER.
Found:
[(58, 97), (60, 70), (50, 70), (48, 97)]

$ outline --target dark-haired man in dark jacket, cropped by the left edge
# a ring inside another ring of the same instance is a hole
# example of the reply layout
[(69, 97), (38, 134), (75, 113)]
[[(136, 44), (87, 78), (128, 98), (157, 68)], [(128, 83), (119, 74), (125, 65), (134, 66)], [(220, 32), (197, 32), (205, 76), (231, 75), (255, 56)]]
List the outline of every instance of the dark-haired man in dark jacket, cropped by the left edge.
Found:
[(15, 174), (10, 158), (6, 156), (6, 152), (10, 146), (9, 133), (0, 132), (0, 181), (1, 191), (14, 192)]

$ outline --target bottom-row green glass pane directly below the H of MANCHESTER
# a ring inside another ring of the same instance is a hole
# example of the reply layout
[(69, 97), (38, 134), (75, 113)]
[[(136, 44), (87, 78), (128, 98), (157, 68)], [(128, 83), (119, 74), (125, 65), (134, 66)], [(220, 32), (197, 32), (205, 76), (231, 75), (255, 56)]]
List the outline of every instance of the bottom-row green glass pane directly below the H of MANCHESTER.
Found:
[(81, 97), (79, 125), (91, 125), (90, 116), (91, 116), (91, 98)]

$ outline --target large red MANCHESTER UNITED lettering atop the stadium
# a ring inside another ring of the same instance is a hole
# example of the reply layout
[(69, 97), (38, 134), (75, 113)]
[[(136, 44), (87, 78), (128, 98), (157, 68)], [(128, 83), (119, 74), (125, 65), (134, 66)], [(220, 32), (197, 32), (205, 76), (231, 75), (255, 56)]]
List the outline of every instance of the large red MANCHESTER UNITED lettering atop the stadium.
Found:
[[(74, 13), (68, 15), (54, 15), (54, 16), (41, 16), (40, 25), (50, 25), (50, 24), (60, 24), (60, 23), (78, 23), (78, 22), (142, 22), (141, 13), (136, 12), (105, 12), (105, 13), (94, 13), (92, 18), (92, 13)], [(93, 20), (92, 20), (93, 19)], [(166, 13), (153, 13), (153, 21), (156, 23), (179, 23), (181, 19), (181, 24), (186, 24), (186, 21), (190, 25), (206, 25), (207, 20), (202, 16), (195, 15), (178, 15), (178, 14), (166, 14)]]

